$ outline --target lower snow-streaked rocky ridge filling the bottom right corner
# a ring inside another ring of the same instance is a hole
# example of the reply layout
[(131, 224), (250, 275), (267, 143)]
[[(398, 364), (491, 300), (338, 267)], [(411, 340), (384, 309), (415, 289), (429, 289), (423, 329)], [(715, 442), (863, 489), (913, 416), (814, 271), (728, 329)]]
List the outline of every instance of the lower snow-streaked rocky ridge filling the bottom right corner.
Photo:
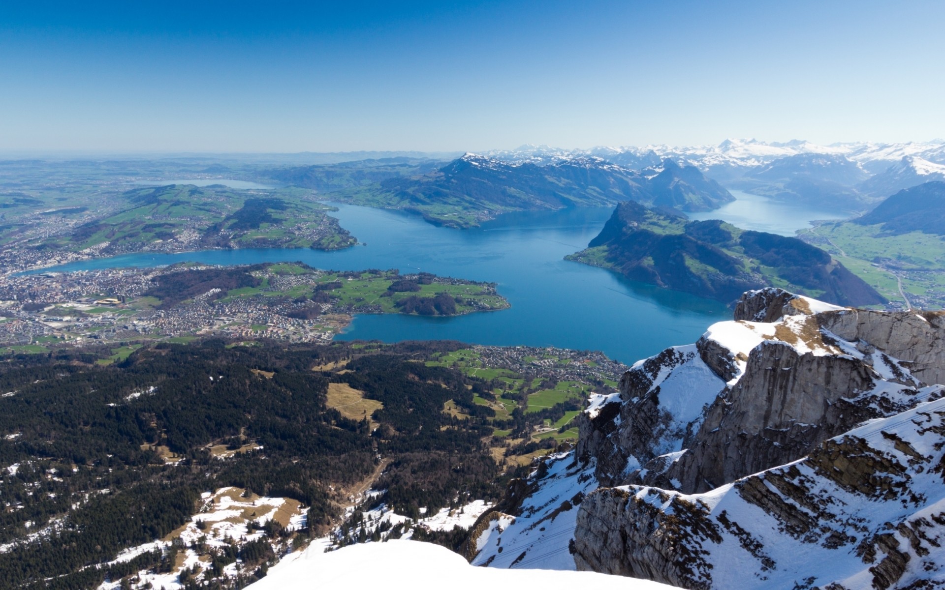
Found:
[(941, 587), (943, 467), (937, 399), (708, 494), (600, 489), (577, 515), (576, 565), (700, 590)]

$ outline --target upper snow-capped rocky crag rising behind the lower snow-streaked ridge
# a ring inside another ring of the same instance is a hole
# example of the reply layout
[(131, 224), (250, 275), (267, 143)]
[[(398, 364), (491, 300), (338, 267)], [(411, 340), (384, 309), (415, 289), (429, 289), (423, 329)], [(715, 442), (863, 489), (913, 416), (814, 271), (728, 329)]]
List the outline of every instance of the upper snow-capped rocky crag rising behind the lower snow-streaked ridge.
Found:
[[(680, 362), (680, 347), (635, 364), (609, 400), (617, 407), (581, 417), (579, 455), (596, 459), (602, 485), (705, 492), (907, 410), (920, 387), (945, 380), (941, 314), (850, 310), (765, 289), (744, 296), (735, 317), (699, 339), (697, 359)], [(664, 383), (696, 366), (699, 379), (682, 380), (708, 405), (674, 422), (674, 405), (691, 411), (694, 394), (680, 400)], [(609, 413), (618, 419), (600, 417)]]

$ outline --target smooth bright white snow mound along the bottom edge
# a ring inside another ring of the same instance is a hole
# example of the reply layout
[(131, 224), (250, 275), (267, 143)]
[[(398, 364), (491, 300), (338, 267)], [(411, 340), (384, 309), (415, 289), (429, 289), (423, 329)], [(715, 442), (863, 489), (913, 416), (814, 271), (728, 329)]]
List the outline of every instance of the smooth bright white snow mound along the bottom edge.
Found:
[[(453, 551), (419, 541), (388, 541), (352, 545), (324, 552), (313, 543), (289, 555), (269, 575), (249, 585), (251, 590), (306, 588), (369, 588), (391, 585), (411, 588), (481, 590), (491, 587), (607, 587), (626, 590), (666, 590), (658, 582), (608, 576), (593, 572), (546, 569), (474, 567)], [(404, 584), (404, 586), (402, 586)]]

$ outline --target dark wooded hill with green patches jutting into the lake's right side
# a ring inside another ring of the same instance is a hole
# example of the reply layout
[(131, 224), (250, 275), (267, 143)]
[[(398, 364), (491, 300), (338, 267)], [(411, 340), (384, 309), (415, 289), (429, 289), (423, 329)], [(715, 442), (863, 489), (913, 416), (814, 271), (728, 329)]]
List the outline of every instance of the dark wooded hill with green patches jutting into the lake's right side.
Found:
[(730, 302), (742, 292), (781, 286), (843, 305), (885, 298), (829, 254), (789, 238), (718, 220), (689, 222), (639, 203), (617, 206), (588, 248), (568, 257), (621, 275)]

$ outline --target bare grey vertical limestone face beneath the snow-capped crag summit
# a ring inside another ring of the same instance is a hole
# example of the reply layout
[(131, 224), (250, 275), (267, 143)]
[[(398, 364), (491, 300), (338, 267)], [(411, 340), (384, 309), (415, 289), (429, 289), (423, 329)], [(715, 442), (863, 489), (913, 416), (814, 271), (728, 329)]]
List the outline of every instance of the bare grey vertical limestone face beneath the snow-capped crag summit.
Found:
[(683, 441), (688, 450), (666, 477), (678, 480), (681, 491), (706, 492), (794, 461), (868, 418), (910, 407), (908, 392), (902, 401), (885, 398), (886, 412), (858, 399), (873, 386), (871, 370), (861, 361), (799, 354), (786, 343), (765, 342), (748, 355), (745, 375)]

